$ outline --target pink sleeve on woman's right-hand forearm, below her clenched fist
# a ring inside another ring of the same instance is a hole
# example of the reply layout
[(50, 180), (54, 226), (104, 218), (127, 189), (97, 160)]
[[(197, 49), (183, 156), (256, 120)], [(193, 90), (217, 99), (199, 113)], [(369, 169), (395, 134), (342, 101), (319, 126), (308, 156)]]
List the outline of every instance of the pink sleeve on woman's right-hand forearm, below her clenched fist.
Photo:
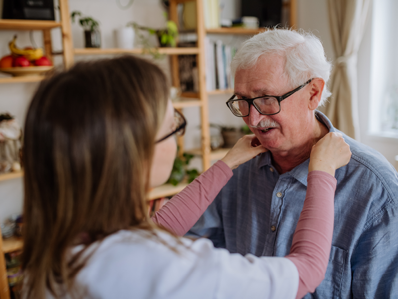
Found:
[(333, 237), (336, 179), (323, 171), (311, 171), (307, 194), (293, 235), (290, 254), (297, 267), (297, 299), (315, 288), (325, 277)]

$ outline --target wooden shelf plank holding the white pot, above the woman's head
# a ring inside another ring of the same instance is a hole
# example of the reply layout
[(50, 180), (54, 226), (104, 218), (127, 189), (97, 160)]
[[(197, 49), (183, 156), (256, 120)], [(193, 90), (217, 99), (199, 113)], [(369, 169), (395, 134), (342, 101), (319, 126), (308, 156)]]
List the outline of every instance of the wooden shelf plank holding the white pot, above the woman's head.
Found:
[[(160, 54), (168, 55), (184, 55), (184, 54), (198, 54), (199, 48), (196, 47), (180, 47), (180, 48), (157, 48)], [(152, 49), (153, 50), (153, 49)], [(107, 55), (107, 54), (145, 54), (143, 48), (135, 49), (99, 49), (99, 48), (76, 48), (76, 55)]]

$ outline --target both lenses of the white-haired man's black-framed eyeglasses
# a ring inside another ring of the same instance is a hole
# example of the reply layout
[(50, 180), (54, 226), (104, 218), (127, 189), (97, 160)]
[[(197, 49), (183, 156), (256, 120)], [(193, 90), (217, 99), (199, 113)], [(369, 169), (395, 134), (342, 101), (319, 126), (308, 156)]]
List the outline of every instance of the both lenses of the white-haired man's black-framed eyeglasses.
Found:
[[(249, 115), (249, 103), (244, 100), (235, 100), (228, 103), (229, 108), (236, 116)], [(274, 97), (259, 98), (253, 101), (253, 105), (263, 114), (275, 114), (280, 110), (279, 102)]]

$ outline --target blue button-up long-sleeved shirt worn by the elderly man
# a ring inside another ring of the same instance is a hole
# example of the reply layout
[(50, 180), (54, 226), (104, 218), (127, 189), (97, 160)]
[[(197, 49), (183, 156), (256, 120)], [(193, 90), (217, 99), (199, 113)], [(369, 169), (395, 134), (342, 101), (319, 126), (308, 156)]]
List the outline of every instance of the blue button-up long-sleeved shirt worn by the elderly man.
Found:
[[(322, 113), (317, 118), (339, 132)], [(343, 137), (352, 156), (335, 173), (329, 264), (325, 279), (304, 298), (398, 298), (397, 171), (376, 150)], [(288, 255), (308, 163), (280, 175), (266, 152), (240, 165), (189, 235), (207, 237), (231, 253)]]

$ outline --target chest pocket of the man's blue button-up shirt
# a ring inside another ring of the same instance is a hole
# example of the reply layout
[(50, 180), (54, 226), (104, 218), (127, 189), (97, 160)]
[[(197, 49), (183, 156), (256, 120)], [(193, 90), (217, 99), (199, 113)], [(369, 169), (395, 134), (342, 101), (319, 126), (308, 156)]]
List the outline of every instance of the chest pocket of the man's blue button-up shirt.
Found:
[(346, 250), (332, 246), (325, 279), (316, 288), (314, 293), (307, 294), (305, 298), (340, 298), (341, 282), (343, 280), (344, 267), (347, 263), (347, 256), (348, 252)]

